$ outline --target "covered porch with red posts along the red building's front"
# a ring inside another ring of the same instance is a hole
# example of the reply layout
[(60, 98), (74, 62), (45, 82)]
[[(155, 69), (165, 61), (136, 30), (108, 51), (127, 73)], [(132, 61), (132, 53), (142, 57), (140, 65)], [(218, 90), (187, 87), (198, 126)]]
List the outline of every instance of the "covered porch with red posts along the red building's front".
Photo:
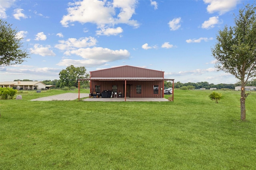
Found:
[[(90, 81), (90, 93), (96, 92), (97, 90), (97, 99), (100, 98), (101, 95), (98, 96), (98, 93), (101, 93), (102, 90), (110, 90), (114, 91), (116, 94), (122, 94), (121, 99), (116, 99), (118, 101), (124, 99), (124, 101), (129, 100), (130, 98), (162, 98), (164, 99), (164, 81), (170, 80), (172, 81), (172, 97), (170, 97), (170, 101), (174, 100), (174, 79), (165, 79), (165, 78), (84, 78), (78, 79), (78, 99), (80, 99), (80, 81)], [(97, 85), (100, 84), (100, 85)], [(116, 86), (114, 84), (118, 84), (118, 88), (112, 90), (112, 86)], [(140, 84), (140, 89), (138, 89), (138, 84)], [(94, 86), (99, 86), (100, 89), (94, 88)], [(142, 92), (140, 92), (142, 91)], [(117, 95), (120, 97), (119, 95)], [(116, 98), (118, 98), (116, 97)], [(107, 100), (110, 101), (110, 98), (115, 98), (113, 95)], [(94, 99), (92, 99), (94, 100)], [(114, 100), (114, 99), (112, 99)], [(164, 99), (166, 100), (166, 99)], [(87, 100), (88, 101), (88, 100)], [(94, 100), (95, 101), (95, 100)], [(168, 101), (168, 100), (167, 100)]]

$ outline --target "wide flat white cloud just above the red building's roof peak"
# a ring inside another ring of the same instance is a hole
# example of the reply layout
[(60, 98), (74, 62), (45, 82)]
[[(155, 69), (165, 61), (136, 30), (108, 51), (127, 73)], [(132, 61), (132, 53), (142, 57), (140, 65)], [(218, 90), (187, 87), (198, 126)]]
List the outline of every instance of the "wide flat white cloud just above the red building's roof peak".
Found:
[(102, 47), (93, 47), (93, 48), (81, 48), (72, 51), (66, 51), (66, 55), (77, 55), (82, 57), (82, 60), (72, 60), (72, 59), (63, 59), (57, 65), (60, 66), (69, 66), (73, 64), (74, 66), (100, 66), (104, 65), (107, 62), (128, 59), (130, 53), (127, 50), (111, 50), (108, 48)]

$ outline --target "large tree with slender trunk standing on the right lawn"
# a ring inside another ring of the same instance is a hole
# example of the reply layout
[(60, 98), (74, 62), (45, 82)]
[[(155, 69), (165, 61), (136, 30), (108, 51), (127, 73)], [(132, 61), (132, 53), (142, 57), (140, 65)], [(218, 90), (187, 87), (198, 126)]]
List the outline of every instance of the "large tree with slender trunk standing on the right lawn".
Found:
[(216, 68), (234, 75), (241, 82), (241, 120), (246, 119), (245, 86), (256, 76), (256, 7), (246, 5), (234, 18), (234, 26), (225, 26), (218, 32), (217, 43), (212, 48)]

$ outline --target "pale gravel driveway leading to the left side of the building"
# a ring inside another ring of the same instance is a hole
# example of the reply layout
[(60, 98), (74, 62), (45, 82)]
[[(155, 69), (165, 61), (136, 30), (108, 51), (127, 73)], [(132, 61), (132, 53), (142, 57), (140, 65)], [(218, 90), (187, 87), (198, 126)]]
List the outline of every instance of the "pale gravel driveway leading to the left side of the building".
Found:
[[(89, 97), (88, 93), (80, 93), (80, 98)], [(64, 93), (54, 96), (47, 96), (43, 98), (32, 99), (30, 101), (52, 101), (52, 100), (76, 100), (78, 99), (78, 93)]]

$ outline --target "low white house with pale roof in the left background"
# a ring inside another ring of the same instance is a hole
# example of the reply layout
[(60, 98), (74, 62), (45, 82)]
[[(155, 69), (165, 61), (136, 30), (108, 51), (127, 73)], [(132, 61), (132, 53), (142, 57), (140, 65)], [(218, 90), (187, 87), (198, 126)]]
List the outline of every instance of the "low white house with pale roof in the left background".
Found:
[(17, 90), (41, 90), (46, 88), (46, 84), (38, 81), (0, 82), (0, 86), (16, 88)]

